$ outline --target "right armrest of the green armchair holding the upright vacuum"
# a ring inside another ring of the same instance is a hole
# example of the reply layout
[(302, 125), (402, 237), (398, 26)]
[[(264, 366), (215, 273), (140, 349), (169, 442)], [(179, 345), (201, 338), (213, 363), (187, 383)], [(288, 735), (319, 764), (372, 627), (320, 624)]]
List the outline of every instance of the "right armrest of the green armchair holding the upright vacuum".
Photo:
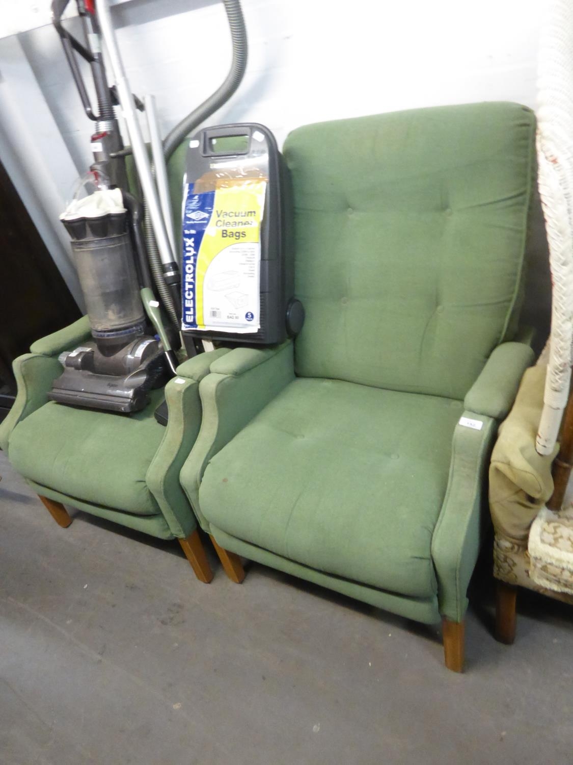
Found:
[(212, 362), (226, 353), (230, 353), (228, 348), (219, 348), (193, 356), (177, 367), (177, 376), (165, 386), (169, 418), (145, 480), (171, 532), (180, 538), (188, 536), (195, 528), (179, 474), (201, 426), (199, 381), (209, 374)]

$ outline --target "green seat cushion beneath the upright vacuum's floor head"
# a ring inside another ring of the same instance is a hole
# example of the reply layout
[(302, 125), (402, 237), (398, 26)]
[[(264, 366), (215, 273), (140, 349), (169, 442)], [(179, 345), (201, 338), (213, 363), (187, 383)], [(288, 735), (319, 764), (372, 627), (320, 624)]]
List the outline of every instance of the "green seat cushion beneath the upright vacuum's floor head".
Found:
[(145, 483), (165, 428), (154, 418), (163, 389), (142, 412), (118, 415), (50, 401), (12, 432), (8, 456), (24, 477), (70, 498), (138, 515), (160, 513)]

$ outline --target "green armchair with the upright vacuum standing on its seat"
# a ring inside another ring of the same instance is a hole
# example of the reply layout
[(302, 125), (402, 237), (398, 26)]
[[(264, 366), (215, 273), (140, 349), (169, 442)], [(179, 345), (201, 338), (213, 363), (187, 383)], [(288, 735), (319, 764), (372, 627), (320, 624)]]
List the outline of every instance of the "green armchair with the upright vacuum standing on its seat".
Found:
[[(147, 407), (123, 416), (48, 401), (60, 375), (58, 356), (90, 336), (87, 317), (33, 343), (14, 363), (18, 395), (0, 425), (0, 447), (63, 526), (72, 522), (63, 503), (160, 539), (179, 539), (197, 578), (211, 581), (196, 520), (179, 473), (201, 422), (199, 380), (215, 350), (182, 363)], [(165, 395), (164, 428), (154, 409)]]

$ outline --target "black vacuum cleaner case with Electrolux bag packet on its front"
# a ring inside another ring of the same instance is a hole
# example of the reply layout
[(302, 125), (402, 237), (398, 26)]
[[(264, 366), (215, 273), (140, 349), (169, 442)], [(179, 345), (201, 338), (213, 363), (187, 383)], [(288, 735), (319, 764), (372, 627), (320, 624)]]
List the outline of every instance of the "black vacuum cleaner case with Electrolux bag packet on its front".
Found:
[(285, 226), (290, 187), (274, 135), (243, 123), (202, 129), (189, 142), (183, 185), (183, 340), (270, 345), (297, 334)]

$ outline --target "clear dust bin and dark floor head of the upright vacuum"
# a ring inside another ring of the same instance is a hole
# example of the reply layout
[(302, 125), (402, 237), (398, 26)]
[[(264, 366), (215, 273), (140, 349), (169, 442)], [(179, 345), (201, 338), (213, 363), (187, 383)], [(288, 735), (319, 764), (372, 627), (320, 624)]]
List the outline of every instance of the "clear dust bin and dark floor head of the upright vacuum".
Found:
[[(132, 198), (121, 198), (133, 209)], [(133, 213), (77, 216), (63, 223), (72, 237), (93, 340), (60, 355), (63, 373), (48, 397), (91, 409), (137, 412), (146, 405), (147, 392), (165, 382), (165, 363), (159, 340), (145, 334)]]

